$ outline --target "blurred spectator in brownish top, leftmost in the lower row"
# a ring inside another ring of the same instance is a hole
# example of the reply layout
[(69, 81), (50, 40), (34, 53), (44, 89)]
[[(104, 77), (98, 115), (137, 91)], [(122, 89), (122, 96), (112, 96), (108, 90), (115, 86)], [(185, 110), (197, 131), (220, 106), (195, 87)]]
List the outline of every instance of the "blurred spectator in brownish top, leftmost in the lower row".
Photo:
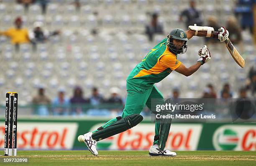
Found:
[(51, 100), (44, 94), (44, 88), (38, 89), (38, 95), (33, 97), (32, 104), (34, 106), (34, 113), (38, 115), (49, 115), (48, 107)]

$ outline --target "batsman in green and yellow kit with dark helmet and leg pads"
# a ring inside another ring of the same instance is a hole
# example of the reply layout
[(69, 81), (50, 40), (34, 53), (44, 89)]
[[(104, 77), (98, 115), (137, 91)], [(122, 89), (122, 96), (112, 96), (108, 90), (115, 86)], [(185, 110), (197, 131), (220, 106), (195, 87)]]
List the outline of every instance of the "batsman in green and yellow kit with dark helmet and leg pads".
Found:
[[(185, 76), (190, 76), (196, 72), (200, 66), (211, 59), (210, 51), (206, 45), (200, 48), (198, 51), (200, 58), (189, 68), (177, 59), (177, 55), (184, 54), (187, 51), (186, 43), (193, 36), (214, 37), (221, 42), (225, 41), (228, 38), (228, 31), (225, 27), (222, 27), (221, 30), (216, 33), (212, 27), (196, 25), (189, 26), (189, 30), (186, 32), (180, 28), (173, 29), (167, 38), (154, 46), (128, 75), (126, 83), (127, 98), (122, 115), (109, 120), (97, 130), (79, 135), (79, 142), (84, 142), (89, 151), (97, 156), (97, 141), (122, 133), (138, 125), (143, 120), (140, 113), (145, 105), (156, 114), (155, 103), (164, 105), (166, 102), (172, 102), (170, 98), (164, 101), (163, 95), (154, 84), (167, 77), (173, 70)], [(170, 112), (157, 113), (163, 115)], [(165, 148), (170, 125), (171, 119), (156, 119), (155, 137), (149, 149), (150, 156), (176, 156), (175, 152)]]

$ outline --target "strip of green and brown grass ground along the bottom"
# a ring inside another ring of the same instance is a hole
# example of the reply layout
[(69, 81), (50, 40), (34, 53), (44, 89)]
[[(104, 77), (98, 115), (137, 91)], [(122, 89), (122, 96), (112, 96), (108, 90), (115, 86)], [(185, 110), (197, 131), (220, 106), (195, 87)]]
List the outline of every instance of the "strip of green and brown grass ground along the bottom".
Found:
[[(256, 151), (177, 151), (176, 157), (151, 157), (148, 151), (18, 151), (28, 163), (15, 166), (256, 166)], [(0, 165), (3, 158), (0, 156)], [(10, 164), (8, 164), (10, 165)]]

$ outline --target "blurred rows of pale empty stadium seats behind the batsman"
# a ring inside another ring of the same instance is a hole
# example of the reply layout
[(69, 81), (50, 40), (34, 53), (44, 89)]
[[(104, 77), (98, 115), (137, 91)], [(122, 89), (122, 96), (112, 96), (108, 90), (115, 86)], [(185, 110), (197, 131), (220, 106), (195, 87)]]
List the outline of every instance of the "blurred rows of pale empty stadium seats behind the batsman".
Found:
[[(216, 0), (197, 1), (199, 7), (208, 4), (202, 11), (205, 19), (212, 14), (232, 15), (231, 7), (222, 7), (222, 12), (218, 13), (220, 9), (214, 5), (218, 3)], [(178, 22), (179, 11), (186, 7), (182, 0), (80, 0), (79, 11), (71, 2), (54, 0), (54, 3), (49, 3), (45, 15), (41, 14), (38, 4), (31, 5), (28, 12), (24, 12), (23, 6), (14, 0), (0, 3), (1, 30), (13, 26), (14, 18), (21, 15), (24, 27), (28, 29), (33, 28), (34, 21), (41, 21), (44, 28), (61, 31), (60, 36), (38, 44), (36, 51), (30, 44), (23, 44), (20, 51), (15, 52), (9, 39), (0, 36), (2, 96), (15, 89), (20, 93), (20, 103), (26, 104), (31, 102), (28, 94), (35, 94), (41, 85), (47, 87), (46, 94), (51, 97), (56, 96), (59, 87), (65, 87), (67, 96), (71, 97), (73, 87), (80, 85), (87, 97), (92, 87), (99, 87), (100, 92), (108, 96), (112, 86), (120, 87), (121, 95), (125, 97), (125, 79), (131, 69), (172, 28), (185, 29), (184, 24)], [(160, 13), (165, 35), (156, 35), (154, 41), (149, 42), (144, 35), (144, 26), (150, 19), (148, 13), (154, 11)], [(99, 32), (97, 35), (91, 34), (93, 28)], [(243, 35), (249, 36), (248, 33)], [(172, 72), (156, 85), (164, 97), (168, 97), (174, 88), (180, 89), (181, 97), (201, 97), (202, 88), (207, 83), (212, 83), (219, 92), (225, 82), (230, 82), (232, 90), (238, 91), (245, 83), (249, 67), (256, 63), (250, 54), (256, 51), (252, 39), (246, 37), (244, 43), (245, 55), (248, 56), (243, 70), (223, 44), (219, 44), (210, 47), (212, 60), (193, 76), (184, 77)], [(198, 59), (197, 51), (203, 44), (203, 38), (192, 38), (187, 53), (179, 55), (178, 59), (187, 66), (194, 64)]]

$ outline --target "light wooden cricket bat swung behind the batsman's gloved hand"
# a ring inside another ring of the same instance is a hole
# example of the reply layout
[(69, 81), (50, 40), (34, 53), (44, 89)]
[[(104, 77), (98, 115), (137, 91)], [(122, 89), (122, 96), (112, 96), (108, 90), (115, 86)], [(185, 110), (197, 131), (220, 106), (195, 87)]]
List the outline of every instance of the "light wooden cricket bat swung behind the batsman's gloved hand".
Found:
[[(220, 30), (221, 31), (221, 30)], [(229, 40), (229, 38), (227, 40), (224, 41), (226, 44), (226, 47), (229, 51), (229, 53), (231, 54), (231, 56), (233, 57), (233, 59), (236, 61), (236, 63), (241, 66), (242, 68), (245, 65), (245, 61), (243, 59), (243, 57), (239, 54), (239, 52), (236, 50), (236, 48), (234, 47), (234, 45), (231, 43), (231, 41)]]

